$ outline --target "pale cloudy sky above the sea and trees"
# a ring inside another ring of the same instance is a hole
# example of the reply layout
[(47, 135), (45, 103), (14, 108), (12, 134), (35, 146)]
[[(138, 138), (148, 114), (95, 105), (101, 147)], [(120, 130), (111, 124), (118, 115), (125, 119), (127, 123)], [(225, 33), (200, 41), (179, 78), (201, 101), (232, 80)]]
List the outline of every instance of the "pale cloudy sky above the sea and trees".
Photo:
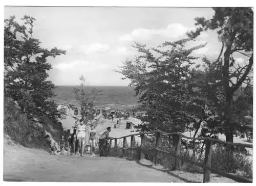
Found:
[[(213, 14), (211, 8), (5, 7), (5, 18), (36, 19), (33, 37), (42, 47), (67, 51), (48, 60), (53, 67), (49, 79), (55, 85), (78, 85), (82, 74), (88, 85), (127, 86), (130, 81), (113, 70), (139, 55), (132, 48), (134, 42), (154, 47), (186, 38), (186, 32), (195, 29), (195, 17), (209, 19)], [(205, 32), (188, 45), (203, 43), (207, 45), (193, 55), (217, 58), (221, 49), (217, 34)]]

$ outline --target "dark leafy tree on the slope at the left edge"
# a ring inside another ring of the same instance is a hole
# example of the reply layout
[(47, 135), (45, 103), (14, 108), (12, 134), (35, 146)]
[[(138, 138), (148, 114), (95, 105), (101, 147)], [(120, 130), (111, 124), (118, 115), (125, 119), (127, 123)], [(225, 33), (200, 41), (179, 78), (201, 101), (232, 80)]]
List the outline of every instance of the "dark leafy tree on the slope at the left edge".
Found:
[(24, 24), (16, 22), (15, 16), (5, 19), (5, 95), (14, 99), (30, 120), (57, 122), (61, 113), (52, 100), (54, 84), (47, 81), (47, 71), (52, 68), (47, 59), (66, 51), (41, 48), (40, 41), (33, 38), (35, 18), (25, 15), (22, 21)]

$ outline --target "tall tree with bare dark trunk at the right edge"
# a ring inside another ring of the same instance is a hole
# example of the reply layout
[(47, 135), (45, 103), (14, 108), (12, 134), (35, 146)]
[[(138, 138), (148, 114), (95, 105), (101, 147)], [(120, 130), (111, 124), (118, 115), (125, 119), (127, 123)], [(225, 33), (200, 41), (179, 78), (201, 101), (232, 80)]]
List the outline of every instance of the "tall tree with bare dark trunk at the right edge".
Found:
[[(215, 15), (205, 20), (204, 17), (197, 17), (196, 31), (188, 33), (190, 38), (198, 37), (202, 32), (214, 30), (218, 33), (224, 48), (224, 62), (219, 61), (222, 67), (221, 82), (224, 90), (224, 133), (226, 141), (233, 142), (235, 124), (233, 116), (233, 96), (242, 86), (249, 82), (249, 75), (253, 65), (253, 11), (251, 8), (213, 8)], [(241, 66), (233, 54), (239, 53), (248, 59), (244, 66)], [(236, 67), (237, 65), (237, 67)]]

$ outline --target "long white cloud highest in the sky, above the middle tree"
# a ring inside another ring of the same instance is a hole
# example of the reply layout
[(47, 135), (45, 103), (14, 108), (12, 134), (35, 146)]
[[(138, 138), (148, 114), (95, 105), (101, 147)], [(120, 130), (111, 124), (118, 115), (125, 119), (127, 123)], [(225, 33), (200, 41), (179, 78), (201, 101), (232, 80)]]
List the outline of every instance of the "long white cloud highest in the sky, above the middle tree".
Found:
[(193, 30), (193, 28), (187, 28), (180, 23), (169, 24), (165, 29), (134, 29), (131, 34), (125, 34), (121, 36), (119, 39), (123, 41), (131, 41), (131, 40), (147, 40), (152, 36), (163, 36), (167, 38), (177, 38), (179, 36), (184, 35), (186, 32)]

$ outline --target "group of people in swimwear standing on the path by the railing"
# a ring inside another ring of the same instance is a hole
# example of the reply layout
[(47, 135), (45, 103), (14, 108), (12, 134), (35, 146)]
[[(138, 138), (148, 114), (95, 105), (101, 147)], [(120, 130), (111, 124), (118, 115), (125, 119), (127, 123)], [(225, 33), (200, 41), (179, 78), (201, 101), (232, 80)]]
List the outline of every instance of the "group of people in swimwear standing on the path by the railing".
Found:
[[(68, 151), (70, 151), (70, 155), (83, 156), (85, 152), (85, 147), (90, 145), (91, 157), (95, 156), (96, 144), (99, 142), (99, 149), (104, 145), (105, 139), (111, 139), (109, 137), (109, 132), (111, 131), (111, 127), (108, 127), (106, 131), (98, 139), (98, 134), (95, 129), (96, 125), (91, 124), (90, 127), (86, 125), (84, 122), (80, 122), (74, 130), (73, 134), (68, 138)], [(64, 149), (66, 147), (64, 136), (62, 135), (59, 140), (60, 154), (64, 153)]]

